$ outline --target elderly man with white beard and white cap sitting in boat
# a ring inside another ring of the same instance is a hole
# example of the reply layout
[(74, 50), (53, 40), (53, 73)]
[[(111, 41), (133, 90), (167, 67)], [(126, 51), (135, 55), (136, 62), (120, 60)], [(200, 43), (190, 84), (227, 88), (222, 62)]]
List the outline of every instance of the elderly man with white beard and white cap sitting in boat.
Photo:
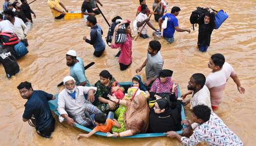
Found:
[[(102, 113), (91, 104), (94, 101), (97, 88), (76, 86), (75, 82), (75, 79), (71, 76), (63, 79), (65, 89), (58, 95), (58, 112), (70, 126), (73, 126), (76, 122), (82, 126), (92, 128), (94, 124), (91, 115)], [(86, 94), (88, 100), (84, 97)]]

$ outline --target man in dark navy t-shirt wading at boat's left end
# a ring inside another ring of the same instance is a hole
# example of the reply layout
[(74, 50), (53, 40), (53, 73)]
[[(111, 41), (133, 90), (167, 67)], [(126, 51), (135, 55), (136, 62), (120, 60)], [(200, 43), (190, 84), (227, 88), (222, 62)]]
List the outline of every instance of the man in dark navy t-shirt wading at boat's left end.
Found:
[(33, 90), (30, 82), (22, 82), (17, 86), (23, 99), (27, 99), (23, 121), (35, 118), (36, 132), (46, 138), (50, 138), (54, 131), (55, 120), (52, 116), (48, 101), (55, 100), (55, 95), (41, 90)]

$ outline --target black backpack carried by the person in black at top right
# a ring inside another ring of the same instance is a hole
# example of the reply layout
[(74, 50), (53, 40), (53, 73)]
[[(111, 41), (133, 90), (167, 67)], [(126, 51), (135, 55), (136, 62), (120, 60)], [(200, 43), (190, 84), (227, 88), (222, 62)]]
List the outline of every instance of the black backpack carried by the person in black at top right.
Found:
[(197, 10), (193, 11), (190, 15), (190, 23), (193, 25), (193, 30), (195, 30), (194, 24), (198, 24), (204, 20), (204, 15), (207, 10), (201, 7), (197, 7)]

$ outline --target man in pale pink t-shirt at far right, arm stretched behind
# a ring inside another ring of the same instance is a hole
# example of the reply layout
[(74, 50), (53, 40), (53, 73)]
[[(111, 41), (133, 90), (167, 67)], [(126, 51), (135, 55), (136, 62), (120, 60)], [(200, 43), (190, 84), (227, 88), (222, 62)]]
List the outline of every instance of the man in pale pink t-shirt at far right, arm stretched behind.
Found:
[(236, 72), (234, 72), (233, 67), (229, 63), (225, 62), (225, 57), (222, 54), (212, 55), (208, 62), (208, 67), (212, 71), (206, 77), (205, 85), (210, 90), (212, 109), (216, 109), (221, 103), (223, 91), (229, 77), (237, 84), (238, 91), (241, 94), (245, 93), (245, 89), (242, 87)]

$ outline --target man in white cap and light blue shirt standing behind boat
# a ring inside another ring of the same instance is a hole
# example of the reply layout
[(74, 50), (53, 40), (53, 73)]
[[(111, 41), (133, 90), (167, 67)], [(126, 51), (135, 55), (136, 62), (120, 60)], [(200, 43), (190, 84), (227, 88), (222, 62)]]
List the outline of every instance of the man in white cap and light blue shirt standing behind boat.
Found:
[(67, 65), (70, 67), (70, 76), (76, 81), (77, 86), (90, 86), (89, 81), (84, 74), (84, 65), (82, 59), (76, 57), (76, 52), (70, 50), (66, 54)]

